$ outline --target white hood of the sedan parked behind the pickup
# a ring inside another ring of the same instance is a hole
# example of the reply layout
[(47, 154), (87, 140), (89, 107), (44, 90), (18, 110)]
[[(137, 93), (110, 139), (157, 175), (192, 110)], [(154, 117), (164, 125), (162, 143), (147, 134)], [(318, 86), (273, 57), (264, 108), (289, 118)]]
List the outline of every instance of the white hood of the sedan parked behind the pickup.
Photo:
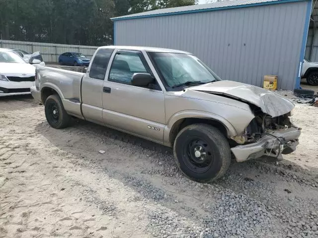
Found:
[(35, 67), (29, 63), (0, 63), (0, 74), (5, 76), (19, 74), (35, 75)]

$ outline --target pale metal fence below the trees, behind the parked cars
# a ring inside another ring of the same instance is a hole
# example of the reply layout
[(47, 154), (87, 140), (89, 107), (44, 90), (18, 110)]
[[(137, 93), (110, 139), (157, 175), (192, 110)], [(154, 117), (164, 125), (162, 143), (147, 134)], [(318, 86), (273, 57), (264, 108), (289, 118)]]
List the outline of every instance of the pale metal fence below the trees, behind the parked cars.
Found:
[(95, 46), (63, 45), (39, 42), (0, 40), (1, 48), (16, 48), (29, 53), (41, 52), (45, 62), (58, 62), (58, 57), (65, 52), (80, 52), (91, 58), (97, 49)]

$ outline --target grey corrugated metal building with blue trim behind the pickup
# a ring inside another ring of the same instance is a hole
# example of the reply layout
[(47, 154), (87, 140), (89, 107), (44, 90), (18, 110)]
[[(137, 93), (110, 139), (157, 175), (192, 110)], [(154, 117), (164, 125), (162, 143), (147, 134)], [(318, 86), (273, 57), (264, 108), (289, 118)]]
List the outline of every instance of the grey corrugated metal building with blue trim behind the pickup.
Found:
[(300, 86), (311, 0), (230, 0), (112, 18), (114, 44), (184, 50), (222, 79)]

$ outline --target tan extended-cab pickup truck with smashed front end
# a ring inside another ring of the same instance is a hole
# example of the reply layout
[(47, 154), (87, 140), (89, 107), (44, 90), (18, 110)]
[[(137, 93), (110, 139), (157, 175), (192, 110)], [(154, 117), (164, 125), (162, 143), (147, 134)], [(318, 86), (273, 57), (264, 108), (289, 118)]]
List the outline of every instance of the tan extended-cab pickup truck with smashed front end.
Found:
[(194, 55), (169, 49), (107, 46), (86, 74), (39, 66), (33, 97), (54, 128), (71, 117), (173, 147), (182, 173), (199, 182), (238, 162), (281, 158), (296, 149), (301, 129), (294, 104), (274, 92), (222, 81)]

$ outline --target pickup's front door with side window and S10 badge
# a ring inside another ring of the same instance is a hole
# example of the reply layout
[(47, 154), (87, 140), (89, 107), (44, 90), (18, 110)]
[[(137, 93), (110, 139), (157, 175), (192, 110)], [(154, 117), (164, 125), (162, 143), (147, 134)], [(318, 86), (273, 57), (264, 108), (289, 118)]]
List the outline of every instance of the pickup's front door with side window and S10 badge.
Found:
[(139, 72), (153, 75), (142, 52), (116, 52), (103, 83), (103, 120), (107, 125), (162, 142), (164, 93), (157, 81), (150, 87), (131, 85), (132, 75)]

